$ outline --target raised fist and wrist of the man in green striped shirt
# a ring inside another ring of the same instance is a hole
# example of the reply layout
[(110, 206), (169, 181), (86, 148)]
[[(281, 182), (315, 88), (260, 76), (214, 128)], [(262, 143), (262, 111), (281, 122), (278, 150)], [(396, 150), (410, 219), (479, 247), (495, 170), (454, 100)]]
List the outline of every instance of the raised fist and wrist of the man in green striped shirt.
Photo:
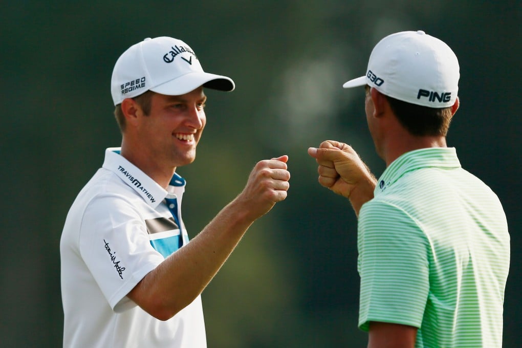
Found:
[(319, 164), (319, 183), (348, 198), (359, 216), (362, 205), (373, 198), (377, 180), (357, 152), (345, 143), (327, 140), (308, 153)]

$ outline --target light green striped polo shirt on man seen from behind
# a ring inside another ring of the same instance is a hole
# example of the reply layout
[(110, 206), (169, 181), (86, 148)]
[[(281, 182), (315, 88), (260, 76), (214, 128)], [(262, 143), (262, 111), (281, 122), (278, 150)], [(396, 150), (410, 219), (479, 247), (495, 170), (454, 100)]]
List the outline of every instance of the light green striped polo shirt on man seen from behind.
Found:
[(419, 328), (416, 347), (501, 347), (509, 234), (499, 198), (454, 148), (407, 152), (358, 223), (359, 327)]

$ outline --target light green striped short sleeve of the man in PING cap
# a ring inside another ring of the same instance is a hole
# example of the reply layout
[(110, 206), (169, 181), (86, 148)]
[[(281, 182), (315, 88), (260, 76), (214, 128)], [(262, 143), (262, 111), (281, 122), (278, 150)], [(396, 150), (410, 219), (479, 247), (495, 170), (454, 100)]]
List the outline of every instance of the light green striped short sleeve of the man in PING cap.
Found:
[(419, 328), (429, 292), (428, 241), (405, 211), (379, 201), (359, 214), (359, 327), (370, 321)]

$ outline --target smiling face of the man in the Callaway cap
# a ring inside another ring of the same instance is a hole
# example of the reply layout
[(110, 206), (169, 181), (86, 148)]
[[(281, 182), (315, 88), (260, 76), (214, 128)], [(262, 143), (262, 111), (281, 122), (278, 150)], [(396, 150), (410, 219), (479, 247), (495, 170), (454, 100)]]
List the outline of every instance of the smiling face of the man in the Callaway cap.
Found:
[(158, 166), (192, 163), (206, 124), (203, 87), (183, 95), (154, 93), (148, 115), (136, 124), (141, 150)]

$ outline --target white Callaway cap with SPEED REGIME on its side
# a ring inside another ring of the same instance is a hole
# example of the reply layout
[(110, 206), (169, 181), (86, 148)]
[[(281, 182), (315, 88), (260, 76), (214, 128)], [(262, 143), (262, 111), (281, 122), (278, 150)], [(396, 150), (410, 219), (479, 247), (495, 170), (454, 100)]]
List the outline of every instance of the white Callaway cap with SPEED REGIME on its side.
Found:
[(147, 38), (129, 47), (116, 61), (111, 78), (114, 105), (149, 90), (182, 95), (200, 86), (220, 91), (235, 88), (231, 78), (205, 73), (191, 47), (169, 37)]

